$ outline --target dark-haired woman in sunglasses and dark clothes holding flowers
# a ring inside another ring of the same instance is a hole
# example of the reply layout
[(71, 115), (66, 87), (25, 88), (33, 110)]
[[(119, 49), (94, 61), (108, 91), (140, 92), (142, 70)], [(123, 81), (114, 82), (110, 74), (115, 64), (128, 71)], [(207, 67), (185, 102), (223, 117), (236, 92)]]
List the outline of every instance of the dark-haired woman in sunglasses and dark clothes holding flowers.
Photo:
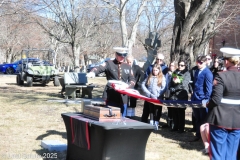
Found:
[[(179, 60), (178, 68), (172, 74), (169, 100), (188, 101), (188, 84), (190, 80), (191, 76), (187, 68), (187, 62), (185, 60)], [(185, 110), (186, 108), (172, 108), (174, 125), (171, 131), (177, 131), (178, 133), (184, 132)]]

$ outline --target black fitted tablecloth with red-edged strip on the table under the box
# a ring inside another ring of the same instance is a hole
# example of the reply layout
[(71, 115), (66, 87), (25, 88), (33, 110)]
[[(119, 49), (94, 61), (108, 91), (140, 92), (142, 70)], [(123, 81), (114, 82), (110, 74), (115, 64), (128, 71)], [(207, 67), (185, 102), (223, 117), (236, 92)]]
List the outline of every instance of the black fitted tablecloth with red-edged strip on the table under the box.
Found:
[(67, 160), (144, 160), (152, 125), (124, 118), (95, 121), (81, 113), (62, 114)]

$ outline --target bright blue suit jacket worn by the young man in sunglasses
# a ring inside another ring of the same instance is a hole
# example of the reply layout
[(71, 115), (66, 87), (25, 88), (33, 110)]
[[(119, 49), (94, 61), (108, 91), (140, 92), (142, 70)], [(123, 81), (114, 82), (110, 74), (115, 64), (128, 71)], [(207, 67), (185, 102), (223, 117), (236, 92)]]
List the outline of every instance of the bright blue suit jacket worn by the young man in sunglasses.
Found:
[(208, 67), (205, 67), (200, 74), (198, 73), (199, 70), (197, 70), (194, 75), (194, 89), (191, 99), (192, 101), (209, 100), (213, 88), (213, 74)]

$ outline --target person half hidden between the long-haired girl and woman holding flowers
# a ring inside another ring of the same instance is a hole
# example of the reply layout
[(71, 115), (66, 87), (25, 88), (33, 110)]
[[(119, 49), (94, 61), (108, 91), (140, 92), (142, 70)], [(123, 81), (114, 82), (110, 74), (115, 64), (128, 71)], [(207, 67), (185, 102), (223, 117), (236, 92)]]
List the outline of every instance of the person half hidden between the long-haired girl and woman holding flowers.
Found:
[[(164, 93), (164, 97), (166, 100), (169, 100), (170, 97), (170, 84), (171, 84), (171, 79), (172, 79), (172, 73), (176, 70), (176, 63), (175, 61), (171, 62), (169, 64), (169, 70), (168, 73), (166, 74), (166, 91)], [(172, 128), (173, 125), (173, 117), (172, 117), (172, 107), (168, 107), (168, 115), (167, 115), (167, 126)], [(164, 126), (163, 126), (164, 127)]]

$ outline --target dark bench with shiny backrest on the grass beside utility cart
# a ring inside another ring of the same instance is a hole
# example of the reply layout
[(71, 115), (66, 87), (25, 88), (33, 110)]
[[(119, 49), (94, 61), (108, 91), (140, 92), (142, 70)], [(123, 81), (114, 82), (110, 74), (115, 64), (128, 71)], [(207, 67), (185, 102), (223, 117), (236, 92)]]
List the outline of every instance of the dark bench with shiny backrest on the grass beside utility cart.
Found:
[(92, 99), (92, 90), (94, 85), (87, 85), (86, 73), (76, 73), (76, 72), (66, 72), (64, 73), (64, 88), (65, 88), (65, 98), (68, 99), (71, 96), (73, 99), (76, 98), (77, 92), (79, 91), (79, 96), (84, 98), (88, 95), (88, 98)]

